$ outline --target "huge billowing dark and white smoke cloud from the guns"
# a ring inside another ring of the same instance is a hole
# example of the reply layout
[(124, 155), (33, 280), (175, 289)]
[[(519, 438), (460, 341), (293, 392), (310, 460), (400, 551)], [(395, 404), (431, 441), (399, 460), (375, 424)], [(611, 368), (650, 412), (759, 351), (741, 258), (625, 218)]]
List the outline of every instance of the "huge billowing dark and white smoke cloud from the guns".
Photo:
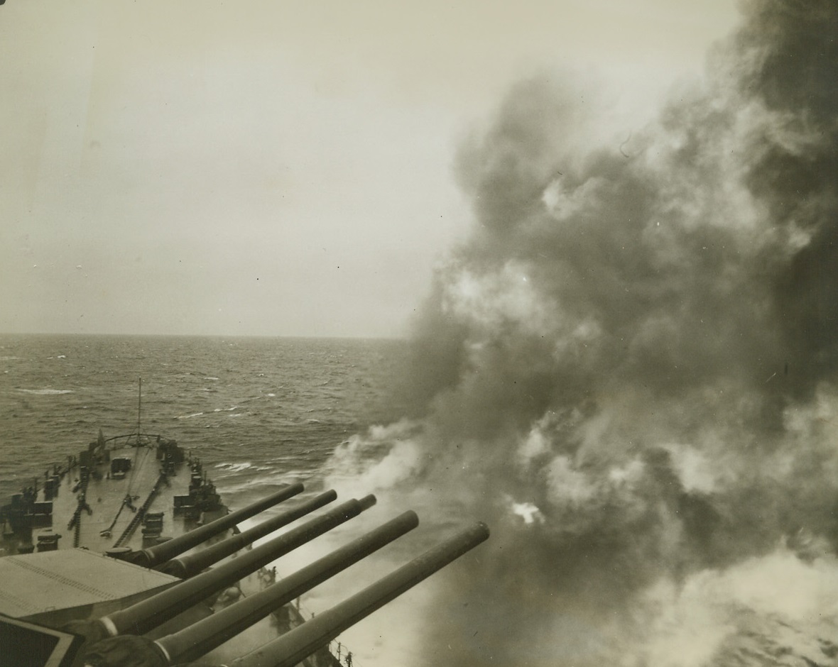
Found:
[(429, 664), (838, 664), (838, 5), (744, 11), (628, 140), (536, 79), (461, 151), (420, 426), (369, 472), (494, 529)]

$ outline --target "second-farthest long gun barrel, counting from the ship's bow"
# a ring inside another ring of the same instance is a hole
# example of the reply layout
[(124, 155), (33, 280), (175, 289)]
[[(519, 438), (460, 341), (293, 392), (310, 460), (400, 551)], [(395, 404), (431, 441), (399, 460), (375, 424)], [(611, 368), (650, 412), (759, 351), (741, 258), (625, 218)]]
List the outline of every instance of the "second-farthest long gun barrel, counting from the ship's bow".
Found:
[(199, 552), (189, 554), (188, 556), (173, 558), (171, 561), (164, 562), (154, 569), (166, 572), (174, 577), (187, 579), (207, 567), (214, 565), (222, 558), (230, 556), (231, 553), (239, 551), (239, 549), (243, 546), (251, 544), (260, 537), (269, 535), (278, 528), (282, 528), (282, 526), (287, 526), (287, 524), (292, 521), (296, 521), (301, 516), (305, 516), (311, 511), (318, 510), (320, 507), (323, 507), (323, 505), (328, 505), (328, 503), (332, 502), (337, 497), (338, 494), (334, 491), (326, 491), (325, 493), (315, 496), (311, 500), (307, 500), (300, 505), (297, 505), (297, 507), (292, 507), (286, 511), (282, 511), (277, 516), (272, 516), (270, 519), (262, 521), (258, 526), (253, 526), (238, 535), (216, 542)]

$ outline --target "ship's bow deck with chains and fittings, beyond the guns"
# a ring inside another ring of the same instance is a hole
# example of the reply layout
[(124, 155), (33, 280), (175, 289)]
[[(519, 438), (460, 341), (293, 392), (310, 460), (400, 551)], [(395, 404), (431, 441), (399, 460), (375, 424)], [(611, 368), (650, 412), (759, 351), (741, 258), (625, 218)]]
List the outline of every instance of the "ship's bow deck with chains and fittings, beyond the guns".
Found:
[(3, 509), (5, 555), (140, 549), (226, 512), (199, 461), (163, 439), (100, 439), (47, 469)]

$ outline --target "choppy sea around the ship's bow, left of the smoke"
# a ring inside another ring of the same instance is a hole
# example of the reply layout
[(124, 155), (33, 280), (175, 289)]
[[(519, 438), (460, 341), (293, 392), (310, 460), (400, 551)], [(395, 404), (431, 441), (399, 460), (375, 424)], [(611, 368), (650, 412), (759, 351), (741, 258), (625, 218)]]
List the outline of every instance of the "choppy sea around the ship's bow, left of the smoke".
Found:
[[(84, 449), (100, 428), (106, 437), (136, 432), (138, 418), (143, 433), (192, 449), (233, 508), (292, 481), (313, 494), (334, 474), (339, 444), (400, 417), (391, 381), (404, 354), (404, 342), (388, 340), (0, 336), (0, 498)], [(390, 514), (362, 521), (360, 530)], [(321, 538), (313, 552), (288, 557), (287, 567), (330, 548)], [(380, 576), (377, 567), (366, 568), (368, 578)], [(346, 597), (341, 587), (303, 602), (328, 607)], [(355, 664), (385, 659), (388, 642), (397, 655), (405, 649), (398, 634), (380, 620), (356, 630)]]

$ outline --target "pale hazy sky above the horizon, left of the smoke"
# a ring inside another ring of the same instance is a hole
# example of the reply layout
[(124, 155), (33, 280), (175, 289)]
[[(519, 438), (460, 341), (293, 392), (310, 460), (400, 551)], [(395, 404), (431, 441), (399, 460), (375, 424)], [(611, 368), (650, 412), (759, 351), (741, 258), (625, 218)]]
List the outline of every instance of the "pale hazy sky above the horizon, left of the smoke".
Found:
[(653, 108), (733, 0), (7, 0), (0, 331), (401, 336), (523, 76)]

